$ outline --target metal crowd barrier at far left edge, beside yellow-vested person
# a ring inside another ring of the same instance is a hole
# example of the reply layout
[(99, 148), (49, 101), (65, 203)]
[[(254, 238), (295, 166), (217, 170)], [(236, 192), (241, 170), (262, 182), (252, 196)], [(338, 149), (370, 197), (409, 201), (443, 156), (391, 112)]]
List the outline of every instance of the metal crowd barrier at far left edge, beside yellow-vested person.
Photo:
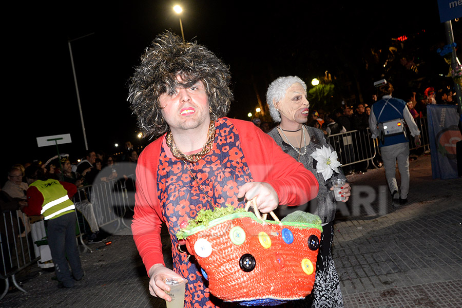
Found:
[[(29, 218), (20, 213), (20, 211), (10, 210), (0, 215), (0, 252), (2, 254), (0, 279), (4, 280), (5, 284), (0, 300), (8, 293), (10, 278), (17, 290), (27, 293), (16, 281), (16, 274), (40, 259), (35, 256), (32, 239), (29, 238), (30, 225), (23, 224), (23, 221), (26, 222)], [(21, 215), (23, 220), (20, 218)]]

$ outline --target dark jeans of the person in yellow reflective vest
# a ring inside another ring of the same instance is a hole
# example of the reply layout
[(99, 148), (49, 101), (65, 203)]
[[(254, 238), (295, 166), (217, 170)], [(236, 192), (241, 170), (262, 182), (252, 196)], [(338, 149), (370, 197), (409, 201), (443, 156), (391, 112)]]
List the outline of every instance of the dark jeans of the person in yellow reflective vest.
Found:
[[(84, 275), (79, 249), (75, 240), (75, 213), (72, 212), (50, 219), (47, 221), (47, 226), (48, 245), (53, 258), (56, 278), (65, 287), (72, 287), (75, 284), (72, 276), (79, 280)], [(69, 271), (67, 261), (69, 261), (72, 274)]]

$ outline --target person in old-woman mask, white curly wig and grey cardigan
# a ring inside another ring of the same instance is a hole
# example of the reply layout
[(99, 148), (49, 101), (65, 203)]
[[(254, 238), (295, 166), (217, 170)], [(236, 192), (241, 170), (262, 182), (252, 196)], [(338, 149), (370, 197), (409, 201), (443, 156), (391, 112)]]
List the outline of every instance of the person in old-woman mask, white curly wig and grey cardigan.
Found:
[[(313, 172), (319, 182), (319, 193), (311, 204), (306, 204), (311, 213), (322, 220), (323, 232), (316, 262), (316, 280), (310, 297), (291, 303), (291, 307), (300, 305), (311, 307), (343, 307), (342, 293), (337, 270), (331, 255), (333, 240), (333, 221), (336, 203), (333, 195), (334, 179), (345, 179), (337, 154), (326, 142), (321, 130), (306, 126), (310, 103), (306, 99), (306, 85), (297, 76), (284, 76), (273, 81), (266, 92), (266, 104), (271, 117), (278, 126), (268, 132), (282, 150), (306, 169)], [(340, 190), (346, 202), (351, 187), (345, 183)], [(295, 210), (295, 209), (292, 209)], [(285, 213), (283, 213), (285, 211)], [(290, 209), (282, 209), (279, 215), (288, 214)]]

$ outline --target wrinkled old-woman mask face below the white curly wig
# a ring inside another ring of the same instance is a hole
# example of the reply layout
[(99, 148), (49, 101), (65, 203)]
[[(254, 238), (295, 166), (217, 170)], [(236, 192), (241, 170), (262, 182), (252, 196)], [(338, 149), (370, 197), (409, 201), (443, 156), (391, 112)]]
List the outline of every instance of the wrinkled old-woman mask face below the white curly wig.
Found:
[(299, 124), (308, 120), (310, 102), (306, 99), (305, 89), (298, 82), (290, 86), (285, 91), (284, 98), (274, 104), (281, 114), (281, 119), (285, 118)]

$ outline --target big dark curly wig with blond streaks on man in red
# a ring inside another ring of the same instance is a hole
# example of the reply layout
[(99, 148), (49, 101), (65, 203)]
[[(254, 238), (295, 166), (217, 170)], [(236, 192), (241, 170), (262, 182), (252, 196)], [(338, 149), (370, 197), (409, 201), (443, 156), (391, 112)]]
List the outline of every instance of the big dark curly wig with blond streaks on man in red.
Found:
[(201, 80), (205, 85), (210, 106), (210, 119), (217, 120), (229, 111), (233, 93), (229, 89), (231, 76), (228, 67), (202, 45), (183, 43), (182, 39), (165, 31), (158, 35), (141, 57), (129, 80), (128, 101), (138, 117), (138, 127), (152, 139), (168, 130), (162, 116), (159, 95), (175, 91), (182, 78), (182, 85)]

